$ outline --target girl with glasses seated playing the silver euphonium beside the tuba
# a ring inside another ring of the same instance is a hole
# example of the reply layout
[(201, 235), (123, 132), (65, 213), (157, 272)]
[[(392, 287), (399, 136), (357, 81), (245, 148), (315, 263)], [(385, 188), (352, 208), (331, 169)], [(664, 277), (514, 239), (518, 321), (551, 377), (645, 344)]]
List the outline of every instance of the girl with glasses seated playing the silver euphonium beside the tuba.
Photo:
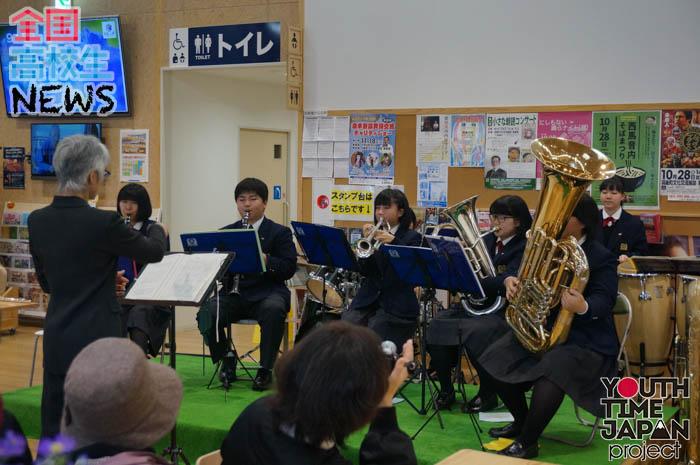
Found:
[[(520, 261), (525, 251), (525, 233), (532, 225), (532, 217), (525, 201), (516, 195), (505, 195), (496, 199), (489, 208), (491, 226), (497, 231), (484, 237), (496, 276), (481, 280), (481, 287), (487, 297), (504, 297), (503, 305), (489, 315), (474, 316), (460, 303), (441, 312), (432, 321), (427, 333), (428, 350), (432, 367), (440, 381), (440, 394), (437, 398), (439, 409), (447, 409), (455, 402), (452, 383), (452, 370), (459, 370), (459, 348), (463, 345), (467, 355), (481, 373), (476, 360), (490, 341), (508, 331), (505, 321), (505, 300), (508, 278), (518, 274)], [(513, 283), (511, 282), (511, 285)], [(498, 404), (495, 391), (480, 378), (479, 393), (462, 407), (464, 412), (483, 412), (494, 409)]]

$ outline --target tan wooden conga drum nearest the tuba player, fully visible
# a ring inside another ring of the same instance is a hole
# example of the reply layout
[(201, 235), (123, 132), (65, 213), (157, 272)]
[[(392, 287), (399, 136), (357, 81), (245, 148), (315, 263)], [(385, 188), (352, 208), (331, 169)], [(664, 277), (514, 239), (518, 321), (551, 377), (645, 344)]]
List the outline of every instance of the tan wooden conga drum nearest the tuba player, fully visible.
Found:
[(632, 305), (625, 348), (635, 376), (660, 376), (673, 340), (673, 288), (667, 274), (619, 274), (619, 291)]

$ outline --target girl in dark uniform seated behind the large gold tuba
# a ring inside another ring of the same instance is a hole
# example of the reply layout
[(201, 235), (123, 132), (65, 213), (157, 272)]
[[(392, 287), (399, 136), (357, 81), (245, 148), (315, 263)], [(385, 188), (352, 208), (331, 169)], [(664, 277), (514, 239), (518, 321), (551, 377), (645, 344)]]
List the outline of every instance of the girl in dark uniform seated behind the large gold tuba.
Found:
[[(568, 340), (535, 355), (509, 330), (479, 358), (482, 379), (490, 379), (514, 418), (513, 423), (489, 430), (492, 437), (515, 439), (499, 452), (502, 455), (537, 457), (537, 440), (565, 393), (593, 415), (604, 415), (600, 378), (615, 376), (619, 349), (612, 315), (617, 296), (617, 260), (596, 240), (597, 229), (598, 208), (588, 194), (583, 194), (561, 234), (562, 239), (573, 236), (578, 241), (590, 270), (582, 293), (565, 289), (561, 297), (561, 308), (575, 313)], [(512, 298), (512, 291), (517, 292), (520, 283), (515, 277), (508, 280), (514, 286), (507, 289), (508, 298)], [(558, 312), (563, 311), (561, 308), (549, 314), (550, 326)], [(525, 391), (530, 387), (532, 399), (528, 408)]]

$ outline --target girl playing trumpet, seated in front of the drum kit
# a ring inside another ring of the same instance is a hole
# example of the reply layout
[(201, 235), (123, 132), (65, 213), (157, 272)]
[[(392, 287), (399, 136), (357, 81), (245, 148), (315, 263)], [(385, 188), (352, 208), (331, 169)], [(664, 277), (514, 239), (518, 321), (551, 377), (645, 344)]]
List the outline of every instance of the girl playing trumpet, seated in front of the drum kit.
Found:
[[(374, 244), (419, 245), (420, 234), (409, 228), (409, 210), (403, 192), (384, 189), (374, 199), (374, 215), (375, 222), (383, 220), (386, 223), (386, 229), (375, 230), (373, 224), (365, 224), (365, 237), (374, 230)], [(365, 279), (342, 319), (368, 326), (382, 340), (392, 341), (397, 347), (403, 346), (413, 337), (418, 326), (418, 299), (413, 286), (399, 280), (381, 248), (358, 261)]]

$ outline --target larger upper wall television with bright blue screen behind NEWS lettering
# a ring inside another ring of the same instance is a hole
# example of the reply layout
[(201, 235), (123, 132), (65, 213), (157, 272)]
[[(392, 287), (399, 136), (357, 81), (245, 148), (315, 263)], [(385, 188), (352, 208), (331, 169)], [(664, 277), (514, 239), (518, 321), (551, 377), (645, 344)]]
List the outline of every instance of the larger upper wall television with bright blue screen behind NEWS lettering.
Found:
[(80, 20), (79, 43), (15, 39), (0, 24), (0, 65), (8, 116), (125, 116), (129, 94), (119, 17)]

